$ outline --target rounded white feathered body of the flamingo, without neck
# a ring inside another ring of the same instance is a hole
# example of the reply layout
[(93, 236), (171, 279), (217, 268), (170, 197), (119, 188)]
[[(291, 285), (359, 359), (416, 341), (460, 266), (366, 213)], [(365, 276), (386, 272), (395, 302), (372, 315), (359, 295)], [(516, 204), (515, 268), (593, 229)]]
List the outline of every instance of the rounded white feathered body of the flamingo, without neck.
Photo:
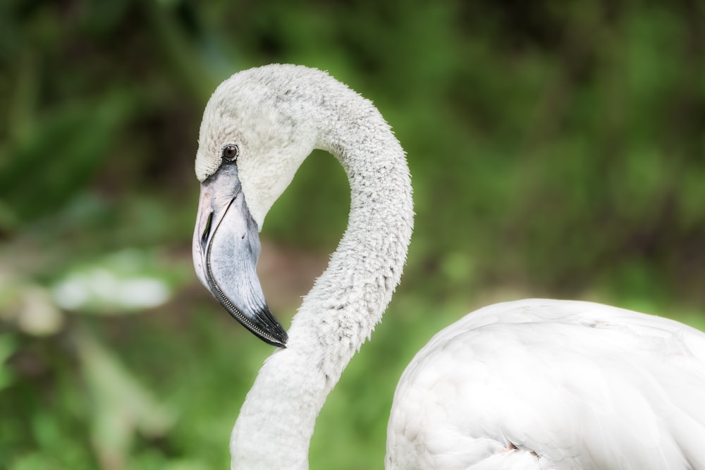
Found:
[(491, 305), (419, 351), (387, 434), (398, 468), (705, 469), (705, 333), (591, 302)]

